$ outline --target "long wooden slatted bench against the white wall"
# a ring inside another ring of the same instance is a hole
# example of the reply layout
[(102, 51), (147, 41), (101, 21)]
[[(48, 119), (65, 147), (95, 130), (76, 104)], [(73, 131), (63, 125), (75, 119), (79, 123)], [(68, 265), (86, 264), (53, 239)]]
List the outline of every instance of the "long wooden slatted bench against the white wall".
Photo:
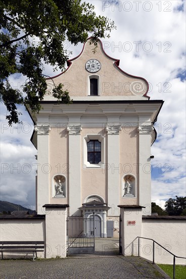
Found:
[[(0, 251), (2, 252), (19, 252), (33, 253), (33, 261), (37, 258), (37, 252), (44, 251), (44, 241), (0, 241)], [(34, 257), (34, 253), (35, 256)]]

